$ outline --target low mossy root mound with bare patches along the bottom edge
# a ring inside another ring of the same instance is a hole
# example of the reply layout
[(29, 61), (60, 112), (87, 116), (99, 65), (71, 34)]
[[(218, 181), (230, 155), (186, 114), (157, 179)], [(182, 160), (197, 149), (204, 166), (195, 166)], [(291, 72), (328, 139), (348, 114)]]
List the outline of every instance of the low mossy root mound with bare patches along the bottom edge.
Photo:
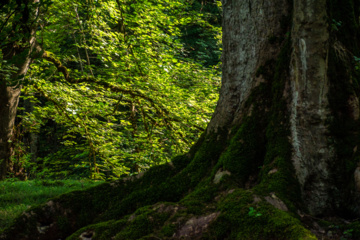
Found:
[[(291, 214), (274, 208), (265, 200), (254, 202), (254, 194), (249, 190), (234, 189), (209, 199), (206, 203), (195, 204), (195, 211), (191, 210), (196, 202), (193, 198), (184, 199), (180, 204), (146, 206), (121, 220), (84, 227), (67, 239), (78, 239), (84, 232), (95, 232), (93, 239), (174, 239), (189, 219), (211, 212), (220, 212), (220, 215), (207, 231), (189, 232), (184, 239), (316, 239)], [(168, 210), (164, 206), (168, 206)], [(260, 215), (249, 214), (251, 207)]]

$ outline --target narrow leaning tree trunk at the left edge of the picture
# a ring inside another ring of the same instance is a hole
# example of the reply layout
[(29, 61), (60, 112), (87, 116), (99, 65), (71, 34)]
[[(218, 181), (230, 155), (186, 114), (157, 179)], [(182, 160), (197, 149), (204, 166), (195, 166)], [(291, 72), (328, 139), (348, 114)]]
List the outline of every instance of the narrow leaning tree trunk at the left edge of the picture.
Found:
[[(36, 28), (34, 20), (38, 13), (37, 6), (31, 6), (38, 0), (17, 1), (14, 22), (12, 28), (19, 29), (17, 34), (14, 31), (9, 35), (2, 34), (4, 39), (0, 39), (2, 44), (3, 59), (12, 66), (17, 67), (16, 73), (12, 74), (11, 80), (0, 76), (0, 180), (6, 178), (9, 161), (12, 155), (11, 138), (13, 135), (16, 110), (19, 103), (22, 80), (26, 75), (30, 62), (31, 54), (35, 48)], [(31, 24), (30, 24), (31, 23)], [(14, 39), (12, 41), (12, 39)]]

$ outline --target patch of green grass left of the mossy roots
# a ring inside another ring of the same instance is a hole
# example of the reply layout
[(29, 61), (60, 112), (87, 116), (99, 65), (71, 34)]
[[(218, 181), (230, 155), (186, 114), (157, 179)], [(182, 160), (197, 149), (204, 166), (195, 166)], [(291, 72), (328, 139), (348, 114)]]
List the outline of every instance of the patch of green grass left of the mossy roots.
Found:
[(8, 179), (0, 182), (0, 232), (32, 205), (74, 190), (100, 184), (88, 180), (29, 180)]

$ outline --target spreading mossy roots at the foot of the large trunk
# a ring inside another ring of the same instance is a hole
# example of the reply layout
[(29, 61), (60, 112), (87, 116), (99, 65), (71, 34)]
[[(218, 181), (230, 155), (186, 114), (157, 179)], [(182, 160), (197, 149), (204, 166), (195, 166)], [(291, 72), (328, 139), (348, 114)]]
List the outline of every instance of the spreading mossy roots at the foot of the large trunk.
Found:
[[(104, 183), (33, 207), (0, 239), (360, 237), (359, 222), (314, 218), (300, 204), (284, 198), (287, 194), (279, 186), (286, 176), (280, 173), (281, 167), (268, 172), (269, 184), (240, 187), (234, 174), (211, 163), (212, 154), (223, 149), (221, 142), (204, 138), (196, 154), (179, 156), (141, 177)], [(199, 170), (195, 166), (200, 163)]]

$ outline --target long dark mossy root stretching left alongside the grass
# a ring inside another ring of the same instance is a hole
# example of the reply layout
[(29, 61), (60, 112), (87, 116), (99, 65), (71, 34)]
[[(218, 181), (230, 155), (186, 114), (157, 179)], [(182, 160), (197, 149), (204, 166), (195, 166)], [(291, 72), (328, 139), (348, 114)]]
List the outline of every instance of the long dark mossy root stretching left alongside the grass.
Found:
[[(44, 219), (44, 224), (55, 224), (57, 228), (66, 228), (70, 233), (91, 223), (101, 223), (112, 219), (121, 219), (137, 208), (154, 204), (162, 199), (178, 201), (186, 191), (186, 179), (168, 180), (179, 170), (170, 165), (152, 168), (140, 179), (117, 183), (117, 186), (104, 183), (87, 191), (76, 191), (54, 198), (55, 208), (46, 210), (48, 206), (37, 206), (31, 209), (33, 222)], [(187, 178), (188, 179), (188, 178)], [(184, 184), (184, 185), (182, 185)], [(181, 186), (181, 187), (180, 187)], [(66, 211), (69, 222), (60, 219)], [(28, 219), (18, 218), (9, 235), (39, 234), (36, 223), (29, 224)], [(24, 225), (26, 226), (24, 228)], [(21, 230), (19, 230), (21, 229)], [(66, 236), (66, 232), (63, 232)], [(64, 236), (59, 236), (63, 238)]]

